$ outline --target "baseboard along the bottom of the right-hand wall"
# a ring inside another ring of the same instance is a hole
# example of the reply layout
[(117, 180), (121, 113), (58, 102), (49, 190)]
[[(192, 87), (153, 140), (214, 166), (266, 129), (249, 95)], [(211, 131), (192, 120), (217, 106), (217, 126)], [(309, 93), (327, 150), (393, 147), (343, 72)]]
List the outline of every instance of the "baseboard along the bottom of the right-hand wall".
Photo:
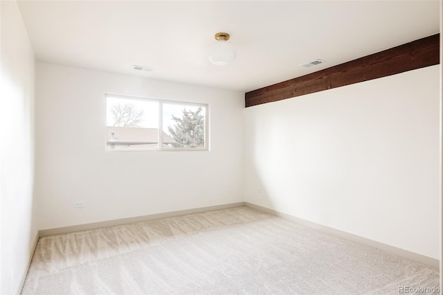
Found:
[(318, 231), (323, 231), (325, 233), (332, 233), (333, 235), (337, 235), (340, 238), (345, 238), (346, 240), (352, 240), (354, 242), (359, 242), (361, 244), (366, 244), (370, 247), (374, 247), (377, 249), (380, 249), (382, 251), (386, 251), (388, 253), (397, 255), (397, 256), (401, 256), (404, 258), (408, 258), (410, 260), (414, 260), (416, 262), (422, 263), (424, 265), (429, 265), (431, 267), (435, 267), (435, 268), (439, 268), (440, 267), (440, 260), (432, 258), (432, 257), (428, 257), (428, 256), (424, 256), (422, 254), (419, 253), (415, 253), (415, 252), (411, 252), (405, 249), (401, 249), (401, 248), (397, 248), (394, 246), (391, 246), (389, 244), (383, 244), (382, 242), (377, 242), (374, 240), (370, 240), (368, 238), (363, 238), (359, 235), (354, 235), (353, 233), (347, 233), (345, 231), (340, 231), (338, 229), (333, 229), (332, 227), (329, 226), (325, 226), (322, 224), (318, 224), (316, 222), (311, 222), (309, 220), (304, 220), (302, 218), (299, 217), (295, 217), (293, 215), (289, 215), (286, 213), (282, 213), (279, 211), (275, 211), (273, 209), (270, 208), (266, 208), (263, 206), (259, 206), (259, 205), (255, 205), (255, 204), (251, 204), (249, 202), (244, 202), (245, 206), (251, 207), (251, 208), (255, 208), (257, 210), (261, 210), (264, 211), (266, 213), (270, 213), (272, 215), (278, 216), (278, 217), (283, 217), (287, 220), (292, 220), (293, 222), (297, 222), (298, 224), (302, 224), (305, 226), (308, 226), (312, 229), (317, 229)]

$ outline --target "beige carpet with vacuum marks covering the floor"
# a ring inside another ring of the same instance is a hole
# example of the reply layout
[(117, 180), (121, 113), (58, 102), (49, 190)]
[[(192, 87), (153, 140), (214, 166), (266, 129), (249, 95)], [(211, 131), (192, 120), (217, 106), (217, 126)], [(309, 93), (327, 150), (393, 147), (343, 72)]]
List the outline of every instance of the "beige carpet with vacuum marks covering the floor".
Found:
[(439, 271), (248, 207), (41, 238), (22, 294), (399, 294)]

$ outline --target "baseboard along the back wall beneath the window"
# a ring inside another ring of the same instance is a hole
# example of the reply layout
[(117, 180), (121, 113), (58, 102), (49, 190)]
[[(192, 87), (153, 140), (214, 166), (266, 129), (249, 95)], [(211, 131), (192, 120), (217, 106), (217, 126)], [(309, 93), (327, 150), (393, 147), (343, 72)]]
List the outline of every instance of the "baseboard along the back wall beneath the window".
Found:
[(60, 235), (62, 233), (73, 233), (74, 231), (86, 231), (89, 229), (100, 229), (101, 227), (107, 227), (107, 226), (128, 224), (128, 223), (132, 223), (132, 222), (141, 222), (141, 221), (145, 221), (145, 220), (157, 220), (159, 218), (175, 217), (175, 216), (180, 216), (180, 215), (221, 210), (221, 209), (233, 208), (233, 207), (239, 207), (239, 206), (244, 206), (244, 202), (222, 204), (222, 205), (208, 206), (208, 207), (201, 207), (201, 208), (192, 208), (192, 209), (187, 209), (187, 210), (172, 211), (172, 212), (166, 212), (166, 213), (143, 215), (143, 216), (136, 216), (136, 217), (129, 217), (129, 218), (122, 218), (122, 219), (118, 219), (118, 220), (108, 220), (108, 221), (104, 221), (104, 222), (78, 224), (78, 225), (73, 225), (73, 226), (57, 227), (55, 229), (41, 229), (39, 231), (39, 236), (45, 237), (46, 235)]

